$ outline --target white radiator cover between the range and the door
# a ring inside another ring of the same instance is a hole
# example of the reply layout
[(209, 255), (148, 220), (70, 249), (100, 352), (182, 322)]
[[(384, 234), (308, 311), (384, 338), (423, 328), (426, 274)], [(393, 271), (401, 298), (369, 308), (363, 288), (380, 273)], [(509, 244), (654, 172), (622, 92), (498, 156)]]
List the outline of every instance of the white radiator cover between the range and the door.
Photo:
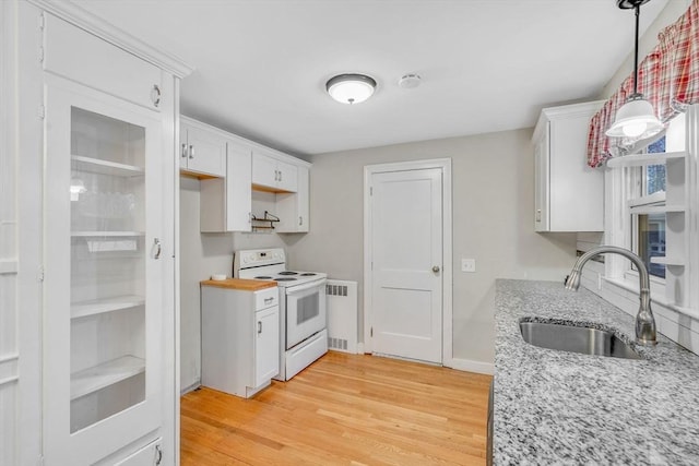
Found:
[(357, 353), (357, 283), (328, 279), (328, 348)]

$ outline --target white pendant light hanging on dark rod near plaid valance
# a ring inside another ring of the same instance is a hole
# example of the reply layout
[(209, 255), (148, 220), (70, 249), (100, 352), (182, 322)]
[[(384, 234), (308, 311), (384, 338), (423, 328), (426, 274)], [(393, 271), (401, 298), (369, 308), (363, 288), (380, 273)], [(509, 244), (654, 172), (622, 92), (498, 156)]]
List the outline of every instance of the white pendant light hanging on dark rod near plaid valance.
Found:
[(617, 0), (623, 10), (636, 11), (636, 41), (633, 46), (633, 94), (619, 108), (612, 127), (605, 132), (611, 138), (645, 139), (663, 130), (653, 106), (638, 92), (638, 23), (641, 5), (650, 0)]

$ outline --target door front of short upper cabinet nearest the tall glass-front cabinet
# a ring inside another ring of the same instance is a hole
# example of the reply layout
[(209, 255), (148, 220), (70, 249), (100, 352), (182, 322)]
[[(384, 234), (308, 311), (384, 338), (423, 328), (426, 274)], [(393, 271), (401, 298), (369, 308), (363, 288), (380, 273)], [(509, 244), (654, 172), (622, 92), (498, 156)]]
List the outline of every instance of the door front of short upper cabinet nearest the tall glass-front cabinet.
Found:
[[(213, 131), (181, 126), (187, 132), (187, 145), (181, 146), (181, 162), (186, 162), (187, 170), (214, 177), (226, 176), (226, 140)], [(181, 136), (180, 136), (181, 140)], [(181, 144), (181, 142), (180, 142)], [(186, 155), (182, 157), (181, 155)], [(182, 164), (180, 164), (180, 167)]]

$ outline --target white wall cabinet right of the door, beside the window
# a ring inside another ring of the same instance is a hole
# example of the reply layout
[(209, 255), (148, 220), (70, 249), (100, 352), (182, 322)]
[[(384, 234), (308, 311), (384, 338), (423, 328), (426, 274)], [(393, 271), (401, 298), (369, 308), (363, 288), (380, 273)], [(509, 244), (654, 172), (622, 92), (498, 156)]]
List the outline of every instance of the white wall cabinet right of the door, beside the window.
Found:
[(542, 110), (533, 136), (536, 231), (604, 230), (604, 174), (585, 155), (590, 119), (603, 104)]

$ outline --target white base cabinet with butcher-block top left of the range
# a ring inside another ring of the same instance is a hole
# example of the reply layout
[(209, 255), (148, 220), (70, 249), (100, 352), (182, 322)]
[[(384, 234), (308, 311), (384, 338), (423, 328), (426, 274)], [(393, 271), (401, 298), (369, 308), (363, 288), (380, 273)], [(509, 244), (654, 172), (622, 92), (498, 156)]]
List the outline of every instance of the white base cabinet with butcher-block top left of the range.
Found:
[(201, 328), (202, 385), (247, 398), (279, 373), (276, 287), (250, 290), (202, 283)]

